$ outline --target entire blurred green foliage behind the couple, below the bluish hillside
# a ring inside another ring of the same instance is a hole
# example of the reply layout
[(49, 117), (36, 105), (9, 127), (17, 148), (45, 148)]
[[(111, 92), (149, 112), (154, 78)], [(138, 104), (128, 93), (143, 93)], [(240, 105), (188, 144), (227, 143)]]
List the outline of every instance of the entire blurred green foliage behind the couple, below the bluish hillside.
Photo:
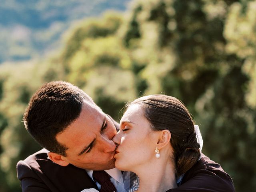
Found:
[(125, 102), (168, 94), (188, 107), (204, 154), (237, 192), (256, 188), (256, 0), (134, 0), (70, 28), (62, 49), (0, 66), (0, 191), (19, 191), (16, 163), (40, 147), (22, 124), (44, 82), (66, 80), (116, 120)]

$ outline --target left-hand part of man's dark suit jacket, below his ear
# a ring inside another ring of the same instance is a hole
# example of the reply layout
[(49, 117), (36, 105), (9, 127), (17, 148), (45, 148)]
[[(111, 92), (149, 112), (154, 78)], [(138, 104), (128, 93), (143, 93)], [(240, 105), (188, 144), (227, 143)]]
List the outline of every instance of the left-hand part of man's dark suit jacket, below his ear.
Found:
[(23, 192), (80, 192), (97, 188), (84, 169), (71, 164), (60, 166), (42, 149), (17, 164), (18, 179)]

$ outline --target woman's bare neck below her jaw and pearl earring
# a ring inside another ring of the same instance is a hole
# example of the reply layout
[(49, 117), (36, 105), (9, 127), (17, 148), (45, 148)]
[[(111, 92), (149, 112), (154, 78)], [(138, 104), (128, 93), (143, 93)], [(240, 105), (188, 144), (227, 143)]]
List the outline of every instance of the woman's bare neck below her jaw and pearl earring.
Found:
[(141, 166), (136, 174), (140, 178), (138, 192), (165, 192), (177, 187), (175, 169), (170, 159), (154, 159)]

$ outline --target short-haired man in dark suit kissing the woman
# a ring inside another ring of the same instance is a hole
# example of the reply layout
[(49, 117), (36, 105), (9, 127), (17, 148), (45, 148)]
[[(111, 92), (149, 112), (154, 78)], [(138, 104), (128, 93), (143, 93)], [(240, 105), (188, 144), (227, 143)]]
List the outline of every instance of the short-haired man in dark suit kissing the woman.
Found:
[[(96, 170), (106, 170), (110, 184), (122, 190), (122, 173), (114, 168), (116, 145), (112, 141), (119, 126), (82, 90), (62, 81), (45, 84), (32, 96), (24, 124), (45, 149), (18, 162), (23, 192), (80, 192), (89, 188), (108, 192)], [(234, 186), (218, 164), (202, 156), (181, 185), (168, 190), (179, 191), (227, 192), (234, 191)]]

